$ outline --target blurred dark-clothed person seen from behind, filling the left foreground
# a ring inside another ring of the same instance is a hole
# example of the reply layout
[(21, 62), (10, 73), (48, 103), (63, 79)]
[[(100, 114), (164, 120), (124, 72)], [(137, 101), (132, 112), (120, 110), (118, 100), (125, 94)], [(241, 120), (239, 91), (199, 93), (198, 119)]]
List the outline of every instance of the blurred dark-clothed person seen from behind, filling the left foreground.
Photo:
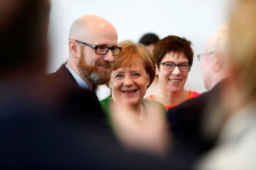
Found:
[(98, 123), (97, 97), (46, 75), (50, 2), (7, 0), (0, 8), (1, 169), (105, 167), (90, 154), (106, 154), (115, 141)]

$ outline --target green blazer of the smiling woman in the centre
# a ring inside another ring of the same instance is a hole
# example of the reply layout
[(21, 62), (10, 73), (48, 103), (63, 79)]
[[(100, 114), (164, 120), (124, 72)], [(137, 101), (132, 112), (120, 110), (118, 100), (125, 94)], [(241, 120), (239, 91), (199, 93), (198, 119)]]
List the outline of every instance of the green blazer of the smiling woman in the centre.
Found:
[[(109, 111), (109, 101), (112, 100), (110, 96), (106, 97), (105, 99), (102, 99), (100, 101), (101, 104), (101, 109), (105, 113), (106, 116), (106, 121), (107, 124), (111, 127), (111, 118), (110, 118), (110, 111)], [(148, 99), (142, 99), (142, 103), (147, 107), (147, 105), (155, 104), (158, 105), (160, 110), (162, 111), (163, 114), (163, 119), (166, 116), (166, 108), (164, 108), (164, 105), (162, 103), (159, 103), (158, 101), (155, 100), (148, 100)]]

